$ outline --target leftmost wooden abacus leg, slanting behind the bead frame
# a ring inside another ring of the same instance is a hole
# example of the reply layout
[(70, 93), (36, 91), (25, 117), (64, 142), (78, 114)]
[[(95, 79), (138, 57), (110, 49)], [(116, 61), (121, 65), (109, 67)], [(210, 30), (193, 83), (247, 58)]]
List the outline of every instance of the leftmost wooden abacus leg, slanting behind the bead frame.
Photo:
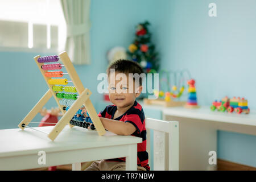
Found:
[(44, 96), (38, 101), (38, 103), (31, 109), (31, 111), (26, 115), (26, 117), (19, 123), (19, 128), (24, 130), (25, 127), (22, 127), (22, 124), (25, 124), (27, 126), (28, 123), (30, 123), (31, 120), (36, 116), (36, 114), (39, 113), (43, 106), (46, 105), (51, 97), (52, 93), (49, 89), (46, 94), (44, 94)]

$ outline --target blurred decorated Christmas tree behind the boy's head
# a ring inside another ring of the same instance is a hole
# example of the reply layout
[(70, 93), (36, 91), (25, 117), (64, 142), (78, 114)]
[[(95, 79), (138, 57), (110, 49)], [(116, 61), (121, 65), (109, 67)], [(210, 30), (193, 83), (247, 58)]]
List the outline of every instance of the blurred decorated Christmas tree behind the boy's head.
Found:
[(141, 64), (145, 73), (156, 73), (159, 69), (158, 53), (151, 43), (151, 33), (148, 31), (149, 22), (139, 23), (136, 26), (135, 39), (129, 46), (127, 55), (131, 60)]

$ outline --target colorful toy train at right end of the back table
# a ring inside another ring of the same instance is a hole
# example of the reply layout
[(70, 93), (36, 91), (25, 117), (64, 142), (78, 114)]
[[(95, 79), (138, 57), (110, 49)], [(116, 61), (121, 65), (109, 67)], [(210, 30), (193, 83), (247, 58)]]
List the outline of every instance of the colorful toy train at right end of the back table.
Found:
[(228, 111), (229, 113), (233, 113), (233, 111), (236, 111), (236, 113), (241, 114), (249, 114), (250, 109), (248, 107), (248, 102), (245, 100), (245, 98), (240, 98), (240, 97), (233, 97), (233, 98), (228, 98), (227, 96), (222, 98), (221, 101), (214, 101), (212, 103), (212, 106), (210, 106), (210, 110), (218, 111)]

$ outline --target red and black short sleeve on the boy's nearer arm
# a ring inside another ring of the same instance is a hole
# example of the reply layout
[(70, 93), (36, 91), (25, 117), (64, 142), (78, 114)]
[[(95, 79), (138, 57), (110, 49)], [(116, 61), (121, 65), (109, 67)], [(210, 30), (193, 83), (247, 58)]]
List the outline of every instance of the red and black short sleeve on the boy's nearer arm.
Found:
[(144, 114), (138, 109), (133, 109), (125, 115), (124, 122), (131, 123), (137, 129), (137, 133), (141, 134), (143, 130)]

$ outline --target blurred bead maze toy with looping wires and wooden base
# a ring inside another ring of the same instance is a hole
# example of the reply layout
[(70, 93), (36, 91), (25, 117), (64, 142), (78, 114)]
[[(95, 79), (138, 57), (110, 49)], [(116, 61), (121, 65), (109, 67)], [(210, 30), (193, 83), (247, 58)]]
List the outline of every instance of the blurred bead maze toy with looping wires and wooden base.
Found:
[[(186, 102), (179, 101), (178, 99), (183, 95), (185, 90), (185, 80), (187, 80), (185, 78), (185, 73), (187, 73), (188, 78), (191, 77), (189, 71), (187, 70), (183, 70), (181, 72), (172, 72), (166, 70), (160, 71), (159, 75), (161, 78), (159, 90), (154, 90), (154, 95), (157, 99), (149, 100), (144, 98), (144, 104), (156, 104), (163, 105), (165, 107), (184, 106)], [(172, 79), (170, 79), (170, 76), (172, 76)], [(171, 80), (174, 82), (174, 84), (172, 84)], [(164, 92), (164, 90), (166, 92)]]

